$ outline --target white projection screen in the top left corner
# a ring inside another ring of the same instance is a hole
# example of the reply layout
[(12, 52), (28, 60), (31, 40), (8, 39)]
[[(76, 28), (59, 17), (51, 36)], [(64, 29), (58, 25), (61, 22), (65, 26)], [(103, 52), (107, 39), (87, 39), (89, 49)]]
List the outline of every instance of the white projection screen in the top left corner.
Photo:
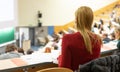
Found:
[(17, 0), (0, 0), (0, 29), (17, 26)]

